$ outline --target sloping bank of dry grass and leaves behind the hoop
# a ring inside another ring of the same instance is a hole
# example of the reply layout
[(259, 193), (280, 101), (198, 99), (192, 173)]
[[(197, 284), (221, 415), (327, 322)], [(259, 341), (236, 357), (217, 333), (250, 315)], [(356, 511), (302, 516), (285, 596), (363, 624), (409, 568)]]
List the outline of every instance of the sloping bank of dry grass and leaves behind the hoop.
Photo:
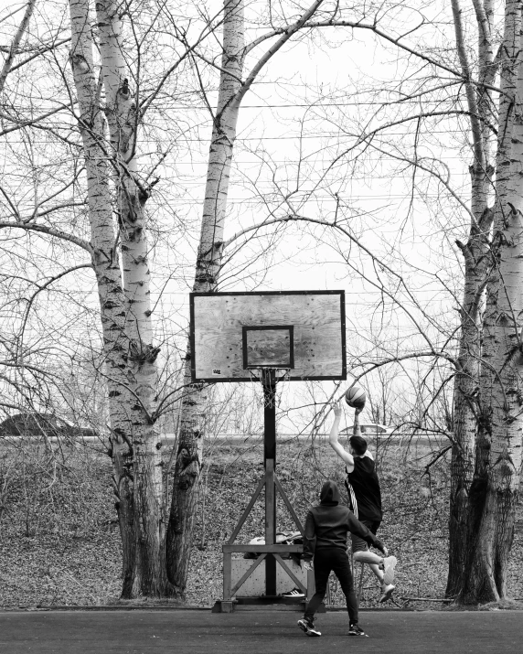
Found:
[[(400, 606), (443, 606), (428, 600), (441, 600), (446, 582), (448, 461), (440, 458), (430, 475), (423, 474), (437, 450), (427, 444), (378, 447), (385, 505), (379, 535), (399, 560)], [(109, 459), (87, 450), (22, 454), (0, 448), (0, 606), (113, 604), (120, 593), (121, 550)], [(323, 442), (280, 443), (277, 474), (302, 520), (326, 478), (343, 486), (342, 465)], [(188, 579), (190, 605), (212, 606), (220, 597), (221, 544), (261, 476), (259, 441), (209, 448)], [(278, 515), (278, 529), (295, 529), (280, 500)], [(514, 597), (523, 597), (521, 524), (509, 578)], [(261, 498), (238, 541), (262, 535)], [(378, 595), (373, 579), (364, 578), (362, 607), (376, 606)], [(329, 602), (343, 603), (334, 581)]]

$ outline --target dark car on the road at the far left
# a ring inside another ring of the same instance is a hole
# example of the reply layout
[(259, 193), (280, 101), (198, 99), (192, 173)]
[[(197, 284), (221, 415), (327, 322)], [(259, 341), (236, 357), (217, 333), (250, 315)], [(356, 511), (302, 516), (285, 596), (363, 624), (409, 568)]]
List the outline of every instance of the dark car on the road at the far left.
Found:
[(79, 438), (95, 436), (88, 427), (80, 427), (54, 413), (16, 413), (0, 423), (1, 436), (48, 436)]

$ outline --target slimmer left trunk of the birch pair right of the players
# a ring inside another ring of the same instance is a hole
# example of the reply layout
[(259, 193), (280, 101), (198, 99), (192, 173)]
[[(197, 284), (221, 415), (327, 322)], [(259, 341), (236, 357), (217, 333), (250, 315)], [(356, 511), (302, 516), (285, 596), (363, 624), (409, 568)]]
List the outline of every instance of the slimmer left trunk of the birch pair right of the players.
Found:
[[(457, 596), (464, 586), (464, 563), (468, 543), (469, 493), (475, 469), (475, 439), (478, 423), (478, 396), (485, 288), (491, 268), (490, 231), (493, 211), (488, 206), (492, 192), (491, 140), (489, 123), (491, 93), (487, 85), (495, 74), (492, 43), (493, 8), (490, 0), (477, 3), (478, 87), (472, 74), (464, 41), (459, 0), (452, 0), (456, 48), (466, 82), (471, 115), (474, 163), (470, 166), (472, 220), (466, 243), (456, 241), (464, 256), (464, 299), (460, 307), (461, 336), (454, 382), (454, 442), (451, 458), (449, 514), (449, 572), (446, 595)], [(476, 91), (479, 89), (479, 91)]]

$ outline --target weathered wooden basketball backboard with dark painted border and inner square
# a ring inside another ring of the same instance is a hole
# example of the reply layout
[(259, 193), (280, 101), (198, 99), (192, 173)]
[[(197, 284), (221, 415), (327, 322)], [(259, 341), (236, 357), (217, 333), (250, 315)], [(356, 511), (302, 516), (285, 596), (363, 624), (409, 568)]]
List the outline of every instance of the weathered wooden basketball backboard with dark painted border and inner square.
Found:
[(191, 293), (193, 381), (346, 380), (345, 292)]

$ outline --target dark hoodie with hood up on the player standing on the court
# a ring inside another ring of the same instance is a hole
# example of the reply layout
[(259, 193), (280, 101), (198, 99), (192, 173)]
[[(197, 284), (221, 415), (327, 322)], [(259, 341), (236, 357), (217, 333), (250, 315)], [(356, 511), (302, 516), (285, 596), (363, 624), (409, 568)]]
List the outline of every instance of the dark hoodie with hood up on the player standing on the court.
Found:
[(319, 506), (310, 509), (305, 520), (304, 561), (310, 561), (319, 548), (339, 547), (347, 550), (349, 531), (383, 551), (383, 543), (361, 524), (350, 509), (340, 505), (339, 499), (336, 482), (327, 480), (320, 493)]

